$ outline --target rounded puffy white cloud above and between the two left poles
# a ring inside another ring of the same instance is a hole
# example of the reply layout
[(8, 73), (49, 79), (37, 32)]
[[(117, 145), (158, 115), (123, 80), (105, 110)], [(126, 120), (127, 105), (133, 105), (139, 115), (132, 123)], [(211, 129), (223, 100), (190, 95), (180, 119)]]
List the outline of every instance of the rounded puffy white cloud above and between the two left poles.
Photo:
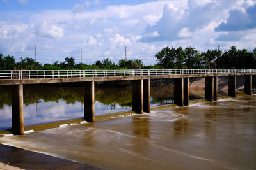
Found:
[(45, 38), (63, 38), (64, 30), (58, 24), (45, 21), (36, 27), (36, 35)]

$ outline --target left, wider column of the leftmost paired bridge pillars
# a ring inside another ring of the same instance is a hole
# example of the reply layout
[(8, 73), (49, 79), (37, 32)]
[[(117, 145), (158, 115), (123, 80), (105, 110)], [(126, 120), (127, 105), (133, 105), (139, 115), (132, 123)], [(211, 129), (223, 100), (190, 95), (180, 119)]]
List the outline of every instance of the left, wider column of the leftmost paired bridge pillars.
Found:
[(143, 80), (132, 80), (132, 110), (143, 113)]

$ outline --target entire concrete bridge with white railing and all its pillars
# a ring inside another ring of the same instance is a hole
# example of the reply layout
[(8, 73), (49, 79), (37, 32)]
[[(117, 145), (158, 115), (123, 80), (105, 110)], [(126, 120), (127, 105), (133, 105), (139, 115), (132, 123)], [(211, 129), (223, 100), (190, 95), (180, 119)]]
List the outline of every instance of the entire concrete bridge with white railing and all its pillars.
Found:
[(205, 99), (216, 101), (218, 76), (228, 76), (230, 97), (236, 97), (236, 76), (244, 76), (244, 92), (251, 95), (256, 69), (2, 70), (0, 85), (12, 87), (12, 132), (24, 134), (23, 85), (26, 84), (83, 82), (84, 119), (95, 122), (94, 81), (132, 80), (132, 110), (149, 113), (150, 79), (173, 78), (174, 103), (188, 106), (189, 78), (205, 77)]

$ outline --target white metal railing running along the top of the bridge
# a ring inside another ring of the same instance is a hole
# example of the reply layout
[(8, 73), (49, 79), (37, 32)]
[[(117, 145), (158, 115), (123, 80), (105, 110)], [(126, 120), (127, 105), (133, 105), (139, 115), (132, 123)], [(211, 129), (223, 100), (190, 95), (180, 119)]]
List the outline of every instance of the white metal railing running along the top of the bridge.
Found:
[(256, 69), (0, 70), (0, 79), (256, 73)]

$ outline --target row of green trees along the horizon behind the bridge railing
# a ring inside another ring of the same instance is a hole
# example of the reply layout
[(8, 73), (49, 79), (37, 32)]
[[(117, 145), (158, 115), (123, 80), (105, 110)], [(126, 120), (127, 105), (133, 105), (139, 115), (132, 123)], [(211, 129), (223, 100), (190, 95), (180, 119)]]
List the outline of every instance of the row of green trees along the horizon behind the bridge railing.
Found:
[(207, 50), (199, 52), (195, 48), (163, 48), (155, 55), (157, 64), (144, 66), (142, 60), (119, 60), (115, 64), (109, 58), (97, 60), (93, 64), (75, 63), (74, 57), (65, 57), (64, 62), (54, 62), (44, 64), (36, 62), (30, 57), (20, 57), (19, 62), (15, 62), (13, 56), (4, 56), (0, 53), (0, 69), (256, 69), (256, 48), (253, 52), (242, 49), (237, 50), (236, 46), (231, 46), (229, 50)]

